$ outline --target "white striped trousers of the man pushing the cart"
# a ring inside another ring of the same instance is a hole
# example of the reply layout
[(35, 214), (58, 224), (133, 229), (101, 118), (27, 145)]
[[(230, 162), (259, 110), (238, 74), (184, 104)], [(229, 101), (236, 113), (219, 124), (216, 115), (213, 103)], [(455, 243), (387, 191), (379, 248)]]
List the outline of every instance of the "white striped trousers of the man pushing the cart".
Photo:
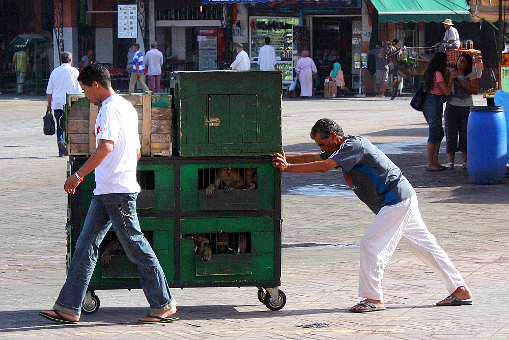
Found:
[(400, 239), (438, 275), (449, 294), (465, 286), (460, 272), (428, 231), (417, 196), (412, 195), (396, 205), (383, 207), (360, 240), (360, 297), (383, 300), (383, 273)]

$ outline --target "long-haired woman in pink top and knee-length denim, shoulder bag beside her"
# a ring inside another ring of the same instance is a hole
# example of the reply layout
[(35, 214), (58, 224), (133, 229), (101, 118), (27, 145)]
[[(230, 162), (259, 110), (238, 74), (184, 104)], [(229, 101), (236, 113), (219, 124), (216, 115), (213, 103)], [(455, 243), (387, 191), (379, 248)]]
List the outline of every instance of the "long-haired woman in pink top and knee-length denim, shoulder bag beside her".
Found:
[(446, 76), (444, 76), (446, 75), (446, 69), (447, 55), (438, 52), (433, 55), (422, 76), (424, 91), (426, 91), (422, 114), (430, 126), (427, 145), (427, 171), (443, 171), (446, 169), (438, 162), (438, 152), (444, 137), (442, 127), (443, 103), (445, 102), (445, 96), (450, 93), (449, 84), (446, 83)]

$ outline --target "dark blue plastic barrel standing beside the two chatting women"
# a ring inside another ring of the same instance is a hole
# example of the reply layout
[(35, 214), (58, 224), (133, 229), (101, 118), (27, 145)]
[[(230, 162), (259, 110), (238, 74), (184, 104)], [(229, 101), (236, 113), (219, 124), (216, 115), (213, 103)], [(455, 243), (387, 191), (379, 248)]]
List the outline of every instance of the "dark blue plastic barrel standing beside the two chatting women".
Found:
[(471, 106), (467, 125), (468, 176), (473, 184), (500, 184), (507, 161), (503, 106)]

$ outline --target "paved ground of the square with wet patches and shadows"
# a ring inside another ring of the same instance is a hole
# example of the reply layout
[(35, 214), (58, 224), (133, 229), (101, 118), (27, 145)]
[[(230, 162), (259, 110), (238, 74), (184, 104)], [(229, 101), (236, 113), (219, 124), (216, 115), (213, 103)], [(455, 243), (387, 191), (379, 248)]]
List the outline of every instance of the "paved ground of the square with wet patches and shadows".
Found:
[[(338, 121), (347, 134), (370, 138), (414, 185), (430, 231), (473, 291), (473, 306), (434, 307), (447, 292), (401, 244), (385, 271), (387, 310), (348, 313), (359, 301), (358, 242), (374, 215), (341, 173), (330, 171), (283, 174), (283, 309), (260, 304), (256, 288), (174, 289), (180, 320), (139, 325), (149, 311), (141, 290), (97, 291), (101, 308), (79, 324), (46, 321), (37, 313), (52, 306), (65, 280), (66, 159), (57, 157), (56, 137), (42, 133), (44, 97), (0, 96), (0, 338), (509, 337), (509, 177), (501, 185), (479, 186), (460, 168), (426, 172), (427, 124), (409, 99), (285, 100), (285, 150), (317, 151), (309, 130), (322, 117)], [(480, 96), (475, 102), (485, 105)], [(322, 322), (331, 327), (297, 327)]]

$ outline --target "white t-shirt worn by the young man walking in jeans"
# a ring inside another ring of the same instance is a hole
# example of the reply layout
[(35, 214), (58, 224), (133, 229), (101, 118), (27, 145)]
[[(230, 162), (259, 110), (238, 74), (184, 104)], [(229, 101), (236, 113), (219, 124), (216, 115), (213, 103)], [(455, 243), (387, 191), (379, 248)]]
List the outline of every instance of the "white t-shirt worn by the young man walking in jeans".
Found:
[(95, 123), (96, 139), (113, 141), (114, 148), (95, 169), (94, 195), (135, 193), (136, 150), (140, 149), (138, 114), (127, 100), (115, 94), (102, 102)]

